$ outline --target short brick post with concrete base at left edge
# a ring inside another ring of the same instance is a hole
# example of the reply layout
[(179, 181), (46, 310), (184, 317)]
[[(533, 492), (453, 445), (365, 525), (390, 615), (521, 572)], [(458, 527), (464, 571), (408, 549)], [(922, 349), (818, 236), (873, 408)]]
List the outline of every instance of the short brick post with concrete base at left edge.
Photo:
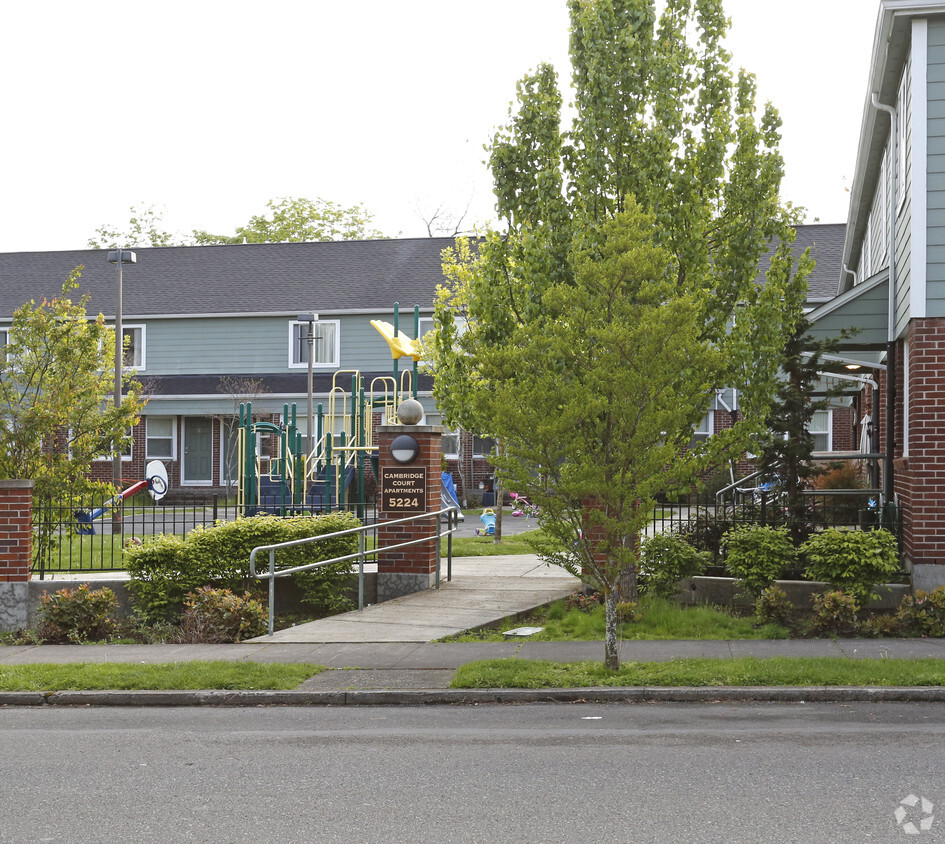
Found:
[(0, 631), (26, 627), (32, 562), (33, 482), (0, 480)]

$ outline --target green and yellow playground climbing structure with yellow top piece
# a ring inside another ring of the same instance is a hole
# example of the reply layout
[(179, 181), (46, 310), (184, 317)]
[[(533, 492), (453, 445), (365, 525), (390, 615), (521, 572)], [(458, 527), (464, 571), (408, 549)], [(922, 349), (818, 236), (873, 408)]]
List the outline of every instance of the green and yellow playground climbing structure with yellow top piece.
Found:
[[(419, 306), (414, 306), (413, 321), (416, 336)], [(350, 502), (356, 505), (358, 518), (364, 518), (367, 473), (377, 477), (375, 414), (382, 425), (397, 423), (401, 402), (417, 397), (421, 358), (417, 341), (400, 332), (398, 304), (393, 325), (378, 320), (371, 324), (390, 346), (392, 375), (366, 383), (359, 370), (338, 370), (327, 408), (318, 405), (314, 430), (307, 437), (298, 429), (295, 404), (284, 405), (281, 423), (253, 421), (252, 404), (240, 405), (237, 505), (241, 512), (326, 512), (348, 509)], [(412, 367), (401, 370), (399, 359), (405, 356), (412, 359)], [(276, 456), (269, 458), (268, 466), (260, 457), (260, 437), (278, 438)]]

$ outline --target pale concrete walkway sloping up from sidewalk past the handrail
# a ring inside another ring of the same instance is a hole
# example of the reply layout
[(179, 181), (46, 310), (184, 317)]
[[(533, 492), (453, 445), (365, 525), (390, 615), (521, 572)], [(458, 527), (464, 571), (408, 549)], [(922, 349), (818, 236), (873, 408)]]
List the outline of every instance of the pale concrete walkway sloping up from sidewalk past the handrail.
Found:
[(577, 578), (539, 562), (531, 554), (457, 557), (452, 573), (452, 581), (447, 582), (444, 568), (439, 589), (299, 624), (250, 641), (433, 642), (527, 613), (580, 586)]

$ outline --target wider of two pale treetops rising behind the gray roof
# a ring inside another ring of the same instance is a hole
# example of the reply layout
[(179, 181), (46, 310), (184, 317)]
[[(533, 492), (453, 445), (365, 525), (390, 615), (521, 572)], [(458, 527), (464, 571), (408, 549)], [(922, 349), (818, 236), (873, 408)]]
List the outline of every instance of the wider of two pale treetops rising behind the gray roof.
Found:
[(198, 245), (221, 243), (307, 243), (316, 240), (370, 240), (383, 237), (362, 205), (344, 208), (327, 199), (284, 197), (266, 203), (268, 214), (250, 218), (232, 235), (194, 231)]

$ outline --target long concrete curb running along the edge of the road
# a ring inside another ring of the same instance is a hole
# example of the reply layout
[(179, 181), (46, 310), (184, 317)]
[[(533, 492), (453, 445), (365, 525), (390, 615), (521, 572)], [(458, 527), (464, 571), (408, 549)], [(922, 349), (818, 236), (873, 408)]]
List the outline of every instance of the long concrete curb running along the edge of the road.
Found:
[(0, 692), (0, 706), (478, 706), (509, 703), (945, 703), (943, 686)]

